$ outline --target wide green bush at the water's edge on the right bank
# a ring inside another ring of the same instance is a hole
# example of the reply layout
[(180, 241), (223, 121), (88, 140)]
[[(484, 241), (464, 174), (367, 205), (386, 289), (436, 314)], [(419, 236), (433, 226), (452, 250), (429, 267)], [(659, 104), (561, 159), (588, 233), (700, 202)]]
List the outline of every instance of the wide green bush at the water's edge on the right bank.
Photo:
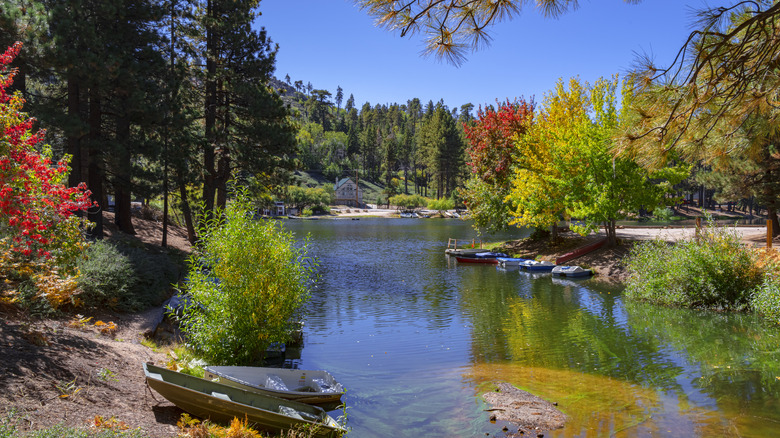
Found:
[(754, 251), (711, 222), (698, 240), (636, 245), (626, 265), (627, 297), (681, 307), (747, 308), (764, 276)]

